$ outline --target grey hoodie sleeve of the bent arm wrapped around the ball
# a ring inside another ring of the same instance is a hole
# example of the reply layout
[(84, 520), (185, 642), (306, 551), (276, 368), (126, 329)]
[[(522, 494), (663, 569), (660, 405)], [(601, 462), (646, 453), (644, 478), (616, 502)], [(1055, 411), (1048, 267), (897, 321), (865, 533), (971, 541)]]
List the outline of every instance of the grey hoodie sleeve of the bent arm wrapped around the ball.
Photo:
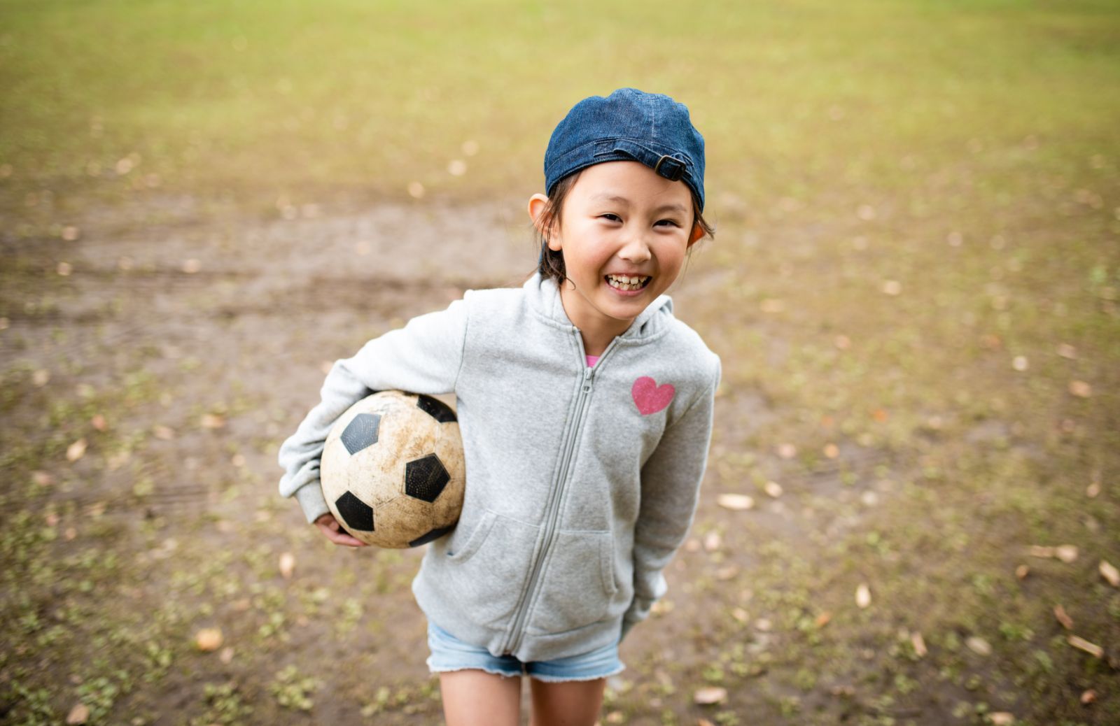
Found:
[(319, 458), (335, 421), (373, 390), (454, 392), (466, 333), (464, 298), (368, 341), (353, 358), (335, 361), (319, 392), (321, 400), (280, 446), (280, 494), (295, 497), (308, 522), (329, 511), (319, 487)]

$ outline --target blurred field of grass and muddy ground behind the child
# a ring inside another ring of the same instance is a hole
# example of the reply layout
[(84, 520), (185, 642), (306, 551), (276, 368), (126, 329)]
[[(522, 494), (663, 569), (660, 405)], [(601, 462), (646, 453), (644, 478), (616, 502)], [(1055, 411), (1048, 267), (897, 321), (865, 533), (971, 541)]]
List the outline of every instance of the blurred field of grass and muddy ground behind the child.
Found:
[(635, 86), (724, 383), (601, 723), (1120, 723), (1118, 82), (1109, 0), (0, 0), (0, 722), (440, 722), (422, 550), (276, 451)]

